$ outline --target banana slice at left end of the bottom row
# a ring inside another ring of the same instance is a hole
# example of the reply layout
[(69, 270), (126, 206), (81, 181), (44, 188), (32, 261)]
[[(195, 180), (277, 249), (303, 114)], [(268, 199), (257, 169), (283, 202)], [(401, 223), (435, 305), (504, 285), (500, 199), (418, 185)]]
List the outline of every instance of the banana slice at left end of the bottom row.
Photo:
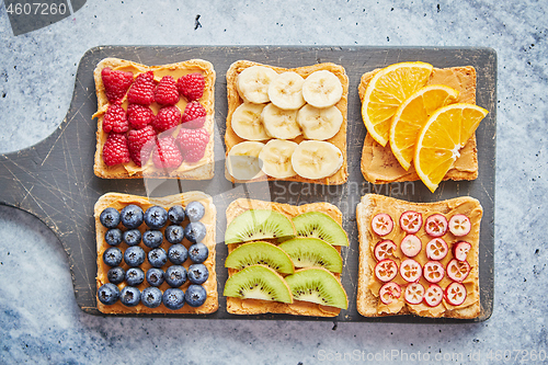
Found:
[(264, 144), (242, 141), (235, 145), (227, 156), (227, 170), (237, 180), (251, 180), (264, 175), (259, 155)]

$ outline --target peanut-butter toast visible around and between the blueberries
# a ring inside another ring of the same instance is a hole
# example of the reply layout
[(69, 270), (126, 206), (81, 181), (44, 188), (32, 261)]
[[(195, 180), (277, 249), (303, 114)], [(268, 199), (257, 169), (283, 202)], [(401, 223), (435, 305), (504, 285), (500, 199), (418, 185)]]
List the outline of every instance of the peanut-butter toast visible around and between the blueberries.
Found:
[[(107, 207), (114, 207), (118, 212), (122, 210), (122, 208), (128, 204), (136, 204), (142, 208), (145, 212), (148, 207), (153, 206), (153, 205), (159, 205), (164, 207), (165, 209), (169, 209), (173, 205), (182, 205), (186, 206), (190, 202), (198, 201), (201, 202), (204, 207), (206, 208), (204, 217), (201, 219), (201, 221), (206, 226), (207, 228), (207, 233), (204, 240), (202, 241), (207, 249), (209, 250), (209, 255), (207, 256), (207, 260), (204, 262), (204, 265), (207, 267), (209, 271), (209, 277), (207, 281), (203, 284), (203, 287), (206, 289), (207, 293), (207, 299), (206, 301), (199, 306), (199, 307), (191, 307), (187, 304), (185, 304), (181, 309), (178, 310), (170, 310), (165, 308), (163, 304), (161, 304), (157, 308), (148, 308), (141, 303), (139, 303), (135, 307), (126, 307), (124, 306), (119, 300), (116, 301), (112, 306), (105, 306), (101, 301), (98, 300), (98, 309), (99, 311), (103, 313), (110, 313), (110, 315), (117, 315), (117, 313), (191, 313), (191, 315), (206, 315), (206, 313), (212, 313), (215, 312), (219, 305), (218, 305), (218, 293), (217, 293), (217, 275), (215, 271), (215, 256), (216, 256), (216, 249), (215, 249), (215, 228), (216, 228), (216, 208), (215, 205), (213, 204), (213, 199), (209, 195), (204, 194), (202, 192), (187, 192), (183, 194), (176, 194), (176, 195), (170, 195), (161, 198), (147, 198), (145, 196), (137, 196), (137, 195), (128, 195), (128, 194), (119, 194), (119, 193), (107, 193), (104, 194), (99, 198), (99, 201), (95, 203), (94, 207), (94, 216), (95, 216), (95, 235), (96, 235), (96, 249), (98, 249), (98, 275), (96, 275), (96, 285), (98, 288), (101, 287), (101, 285), (109, 283), (109, 278), (106, 276), (110, 266), (104, 264), (103, 262), (103, 252), (109, 249), (109, 244), (106, 243), (104, 239), (104, 235), (107, 231), (107, 228), (105, 228), (99, 217), (101, 215), (101, 212)], [(186, 225), (189, 221), (187, 219), (183, 221), (183, 226)], [(119, 225), (121, 229), (123, 228), (122, 224)], [(165, 228), (165, 227), (164, 227)], [(163, 232), (164, 228), (161, 228), (161, 231)], [(145, 232), (147, 230), (147, 226), (144, 223), (140, 227), (139, 230), (141, 232)], [(182, 242), (186, 249), (192, 244), (189, 242), (186, 239), (183, 240)], [(142, 242), (139, 243), (139, 246), (145, 250), (145, 252), (148, 253), (150, 249), (146, 247)], [(127, 249), (127, 244), (125, 242), (122, 242), (118, 248), (124, 252), (125, 249)], [(161, 248), (168, 252), (168, 249), (171, 247), (171, 244), (164, 239)], [(186, 260), (183, 263), (183, 266), (185, 269), (189, 269), (189, 266), (192, 264), (191, 260)], [(168, 263), (162, 266), (161, 269), (165, 272), (165, 270), (171, 265), (171, 263), (168, 261)], [(122, 263), (121, 266), (124, 270), (127, 270), (128, 266), (126, 263)], [(151, 267), (150, 263), (148, 260), (145, 260), (145, 262), (139, 266), (146, 274), (147, 270)], [(122, 290), (122, 288), (125, 286), (125, 282), (122, 284), (118, 284), (118, 288)], [(187, 281), (183, 286), (181, 286), (181, 289), (186, 290), (189, 287), (190, 282)], [(142, 284), (138, 285), (137, 288), (142, 292), (148, 286), (147, 281), (145, 280)], [(170, 286), (164, 282), (162, 285), (160, 285), (160, 290), (162, 293), (168, 289)]]

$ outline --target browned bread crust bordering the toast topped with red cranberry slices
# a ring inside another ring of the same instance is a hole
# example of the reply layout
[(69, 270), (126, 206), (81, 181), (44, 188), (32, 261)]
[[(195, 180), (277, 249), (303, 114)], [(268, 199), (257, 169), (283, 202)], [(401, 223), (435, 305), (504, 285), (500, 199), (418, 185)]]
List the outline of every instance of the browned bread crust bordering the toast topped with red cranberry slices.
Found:
[[(356, 306), (357, 311), (364, 317), (385, 317), (385, 316), (395, 316), (395, 315), (418, 315), (410, 310), (410, 305), (406, 305), (400, 311), (397, 313), (379, 313), (377, 310), (378, 297), (373, 294), (368, 284), (372, 280), (372, 275), (374, 275), (370, 269), (370, 260), (375, 260), (372, 253), (372, 244), (376, 244), (374, 241), (375, 238), (369, 231), (370, 219), (374, 215), (374, 212), (377, 208), (384, 209), (388, 207), (392, 207), (400, 213), (406, 210), (415, 210), (418, 213), (423, 214), (423, 218), (425, 218), (427, 213), (442, 213), (447, 214), (452, 210), (453, 207), (459, 205), (468, 205), (473, 207), (473, 209), (480, 209), (480, 203), (469, 196), (456, 197), (453, 199), (436, 202), (436, 203), (409, 203), (400, 199), (396, 199), (392, 197), (377, 195), (377, 194), (366, 194), (362, 197), (361, 203), (356, 207), (356, 220), (358, 227), (358, 240), (359, 240), (359, 269), (358, 269), (358, 285), (357, 285), (357, 297), (356, 297)], [(399, 218), (399, 217), (392, 217)], [(480, 217), (481, 218), (481, 215)], [(395, 224), (397, 221), (395, 220)], [(445, 318), (460, 318), (460, 319), (472, 319), (477, 318), (480, 315), (481, 306), (479, 300), (479, 221), (472, 221), (472, 231), (471, 235), (477, 237), (475, 240), (469, 241), (471, 243), (472, 249), (468, 253), (467, 261), (471, 265), (471, 272), (469, 274), (470, 277), (475, 277), (475, 282), (471, 284), (473, 290), (468, 293), (470, 296), (477, 297), (477, 300), (471, 305), (465, 307), (450, 307), (443, 311), (443, 313), (438, 313), (436, 316), (429, 316), (427, 313), (423, 313), (424, 317), (445, 317)], [(399, 242), (397, 242), (398, 244)], [(447, 242), (449, 243), (449, 242)], [(423, 242), (425, 244), (425, 242)], [(403, 295), (403, 293), (402, 293)], [(444, 299), (445, 304), (445, 299)], [(441, 306), (443, 306), (442, 304)]]

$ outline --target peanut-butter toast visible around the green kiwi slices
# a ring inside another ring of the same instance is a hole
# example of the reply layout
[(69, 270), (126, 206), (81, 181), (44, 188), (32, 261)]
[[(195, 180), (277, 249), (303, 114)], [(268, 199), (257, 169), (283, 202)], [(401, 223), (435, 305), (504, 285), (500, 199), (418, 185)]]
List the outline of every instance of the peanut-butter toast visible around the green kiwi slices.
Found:
[[(271, 203), (255, 199), (238, 198), (227, 207), (227, 226), (240, 214), (249, 209), (272, 209), (284, 214), (289, 219), (306, 212), (322, 212), (333, 218), (339, 225), (342, 225), (342, 213), (339, 208), (329, 203), (312, 203), (300, 206)], [(272, 242), (275, 243), (275, 240)], [(228, 244), (228, 253), (236, 250), (242, 243)], [(334, 247), (341, 253), (341, 247)], [(228, 269), (229, 277), (237, 270)], [(340, 281), (341, 275), (334, 274)], [(340, 308), (320, 306), (315, 303), (294, 300), (293, 304), (285, 304), (259, 299), (240, 299), (227, 297), (227, 311), (232, 315), (263, 315), (263, 313), (286, 313), (294, 316), (313, 316), (313, 317), (335, 317), (341, 311)]]

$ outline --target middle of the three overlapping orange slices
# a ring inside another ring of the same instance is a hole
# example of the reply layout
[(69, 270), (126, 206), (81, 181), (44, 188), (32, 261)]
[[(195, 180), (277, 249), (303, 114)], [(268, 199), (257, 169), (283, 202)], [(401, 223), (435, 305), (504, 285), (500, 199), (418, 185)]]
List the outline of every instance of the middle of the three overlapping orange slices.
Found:
[(414, 144), (429, 117), (439, 107), (457, 101), (458, 91), (432, 84), (419, 89), (398, 107), (390, 126), (390, 148), (403, 169), (413, 160)]

